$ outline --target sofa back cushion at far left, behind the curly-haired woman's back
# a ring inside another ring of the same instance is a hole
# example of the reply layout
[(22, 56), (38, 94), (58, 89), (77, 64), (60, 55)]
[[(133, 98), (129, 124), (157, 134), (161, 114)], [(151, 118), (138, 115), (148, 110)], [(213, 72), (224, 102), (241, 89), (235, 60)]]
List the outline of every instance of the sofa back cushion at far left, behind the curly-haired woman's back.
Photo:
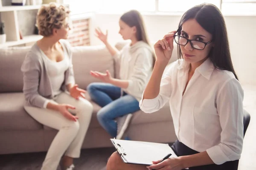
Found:
[(0, 49), (0, 93), (21, 92), (23, 75), (20, 67), (30, 47)]

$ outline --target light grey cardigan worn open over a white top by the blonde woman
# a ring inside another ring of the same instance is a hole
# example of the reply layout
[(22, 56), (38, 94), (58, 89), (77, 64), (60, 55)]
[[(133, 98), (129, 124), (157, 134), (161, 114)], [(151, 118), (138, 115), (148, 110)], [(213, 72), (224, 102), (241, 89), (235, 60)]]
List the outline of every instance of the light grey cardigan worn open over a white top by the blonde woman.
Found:
[[(64, 82), (61, 85), (61, 90), (65, 91), (65, 85), (75, 83), (72, 51), (67, 40), (59, 40), (59, 42), (64, 48), (64, 53), (67, 53), (70, 59), (69, 68), (65, 71)], [(26, 99), (25, 105), (43, 108), (44, 103), (48, 99), (53, 98), (52, 88), (45, 66), (46, 57), (44, 55), (37, 43), (35, 43), (26, 54), (21, 66), (21, 71), (23, 72), (23, 93)]]

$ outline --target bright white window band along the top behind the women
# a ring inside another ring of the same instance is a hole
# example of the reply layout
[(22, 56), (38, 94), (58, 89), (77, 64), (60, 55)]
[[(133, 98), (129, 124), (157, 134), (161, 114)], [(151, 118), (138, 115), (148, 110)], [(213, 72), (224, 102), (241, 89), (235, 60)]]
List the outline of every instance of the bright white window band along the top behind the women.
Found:
[(223, 14), (256, 14), (256, 0), (63, 0), (72, 14), (86, 12), (123, 13), (130, 9), (141, 12), (184, 12), (200, 3), (212, 3)]

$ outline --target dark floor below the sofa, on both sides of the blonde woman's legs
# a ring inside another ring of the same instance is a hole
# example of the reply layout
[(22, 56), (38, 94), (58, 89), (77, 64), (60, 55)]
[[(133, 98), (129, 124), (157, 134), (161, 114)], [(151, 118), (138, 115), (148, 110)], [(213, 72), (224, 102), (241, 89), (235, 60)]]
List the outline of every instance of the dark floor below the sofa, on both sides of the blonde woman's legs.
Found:
[[(74, 160), (76, 170), (105, 170), (113, 152), (114, 148), (81, 150), (80, 158)], [(45, 152), (0, 155), (0, 170), (40, 170), (45, 155)]]

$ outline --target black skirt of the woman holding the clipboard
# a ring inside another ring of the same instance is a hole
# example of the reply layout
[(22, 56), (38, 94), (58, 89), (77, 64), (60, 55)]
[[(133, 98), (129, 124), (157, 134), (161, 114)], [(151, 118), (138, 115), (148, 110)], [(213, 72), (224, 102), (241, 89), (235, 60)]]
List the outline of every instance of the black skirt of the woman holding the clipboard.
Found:
[[(177, 156), (186, 156), (186, 155), (193, 155), (193, 154), (199, 153), (187, 147), (185, 144), (179, 142), (178, 140), (171, 147)], [(227, 161), (224, 164), (220, 164), (220, 165), (209, 164), (209, 165), (203, 165), (199, 167), (189, 167), (189, 170), (237, 170), (238, 162), (239, 160)]]

